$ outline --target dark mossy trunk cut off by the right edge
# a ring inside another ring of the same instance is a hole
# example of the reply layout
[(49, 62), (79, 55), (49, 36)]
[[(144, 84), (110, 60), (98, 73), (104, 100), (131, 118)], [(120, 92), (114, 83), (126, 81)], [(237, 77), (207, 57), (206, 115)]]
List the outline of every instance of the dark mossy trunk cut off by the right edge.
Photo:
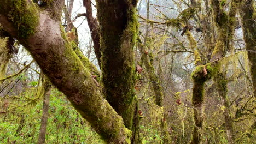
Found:
[(253, 94), (256, 96), (256, 25), (255, 25), (255, 6), (253, 0), (242, 1), (240, 8), (242, 17), (243, 39), (246, 43), (248, 59), (251, 63), (251, 76), (253, 82)]

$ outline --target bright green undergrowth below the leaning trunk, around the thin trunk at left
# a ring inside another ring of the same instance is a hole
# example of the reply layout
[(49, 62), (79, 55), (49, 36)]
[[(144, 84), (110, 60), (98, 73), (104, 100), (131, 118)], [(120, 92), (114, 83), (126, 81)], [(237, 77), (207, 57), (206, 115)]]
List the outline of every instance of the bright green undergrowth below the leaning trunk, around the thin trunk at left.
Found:
[[(0, 143), (37, 143), (43, 98), (28, 104), (36, 88), (27, 89), (18, 97), (0, 99), (8, 102), (7, 113), (0, 107)], [(22, 106), (23, 105), (23, 106)], [(21, 130), (18, 128), (21, 127)], [(69, 101), (57, 89), (51, 91), (45, 143), (103, 143)]]

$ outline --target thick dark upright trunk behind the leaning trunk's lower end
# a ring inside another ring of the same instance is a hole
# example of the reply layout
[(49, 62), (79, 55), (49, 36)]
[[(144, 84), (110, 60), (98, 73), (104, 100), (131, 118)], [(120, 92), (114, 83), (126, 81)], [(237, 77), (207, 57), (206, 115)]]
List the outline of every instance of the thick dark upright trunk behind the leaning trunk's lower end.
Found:
[[(137, 1), (96, 2), (104, 95), (114, 110), (123, 117), (125, 127), (132, 130), (139, 126), (134, 121), (138, 117), (133, 53), (137, 38)], [(138, 142), (133, 138), (132, 143)]]

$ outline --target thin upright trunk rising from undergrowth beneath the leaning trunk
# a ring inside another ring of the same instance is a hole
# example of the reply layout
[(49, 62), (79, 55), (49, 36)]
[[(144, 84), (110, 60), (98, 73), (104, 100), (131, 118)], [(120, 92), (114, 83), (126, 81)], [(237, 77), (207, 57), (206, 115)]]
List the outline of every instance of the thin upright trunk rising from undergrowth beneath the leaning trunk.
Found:
[(48, 121), (48, 110), (49, 110), (49, 101), (50, 101), (50, 92), (51, 92), (51, 83), (50, 81), (44, 77), (42, 81), (43, 85), (43, 115), (41, 118), (41, 125), (40, 125), (40, 131), (38, 136), (38, 144), (45, 143), (45, 134), (46, 134), (46, 127), (47, 127), (47, 121)]

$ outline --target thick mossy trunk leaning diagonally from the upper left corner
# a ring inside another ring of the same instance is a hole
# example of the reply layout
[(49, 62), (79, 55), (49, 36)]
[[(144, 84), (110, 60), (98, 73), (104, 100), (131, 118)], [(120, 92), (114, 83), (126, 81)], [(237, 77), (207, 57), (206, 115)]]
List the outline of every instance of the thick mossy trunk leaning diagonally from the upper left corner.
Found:
[[(125, 128), (123, 118), (103, 99), (90, 72), (75, 55), (65, 33), (61, 31), (62, 6), (63, 1), (53, 1), (50, 8), (37, 10), (31, 1), (1, 1), (0, 22), (30, 51), (51, 83), (66, 95), (106, 142), (130, 143), (132, 134)], [(15, 7), (20, 9), (16, 10)], [(14, 18), (10, 20), (10, 16)]]

